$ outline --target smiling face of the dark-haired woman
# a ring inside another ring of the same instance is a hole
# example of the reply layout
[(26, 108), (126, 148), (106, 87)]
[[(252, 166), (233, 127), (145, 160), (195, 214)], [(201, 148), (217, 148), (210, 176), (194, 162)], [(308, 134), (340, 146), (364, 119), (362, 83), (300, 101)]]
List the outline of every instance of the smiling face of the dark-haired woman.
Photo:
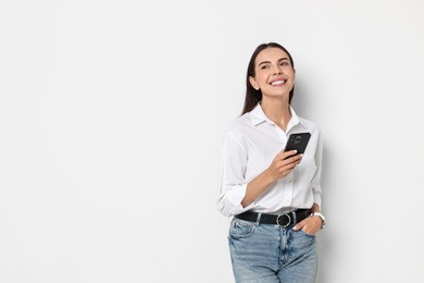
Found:
[(295, 85), (295, 70), (289, 57), (279, 48), (266, 48), (254, 60), (254, 77), (249, 82), (254, 89), (261, 89), (262, 96), (289, 96)]

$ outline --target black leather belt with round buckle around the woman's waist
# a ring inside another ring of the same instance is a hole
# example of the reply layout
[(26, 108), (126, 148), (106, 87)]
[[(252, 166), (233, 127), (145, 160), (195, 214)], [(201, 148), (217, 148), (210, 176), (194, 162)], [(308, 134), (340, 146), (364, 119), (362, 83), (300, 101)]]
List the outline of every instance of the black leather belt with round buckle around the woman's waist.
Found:
[[(259, 219), (258, 219), (258, 214), (261, 214)], [(250, 221), (250, 222), (259, 222), (262, 224), (275, 224), (282, 227), (287, 227), (290, 224), (296, 224), (302, 221), (303, 219), (309, 217), (309, 214), (310, 214), (309, 209), (297, 209), (285, 214), (266, 214), (266, 213), (246, 211), (235, 216), (235, 218)]]

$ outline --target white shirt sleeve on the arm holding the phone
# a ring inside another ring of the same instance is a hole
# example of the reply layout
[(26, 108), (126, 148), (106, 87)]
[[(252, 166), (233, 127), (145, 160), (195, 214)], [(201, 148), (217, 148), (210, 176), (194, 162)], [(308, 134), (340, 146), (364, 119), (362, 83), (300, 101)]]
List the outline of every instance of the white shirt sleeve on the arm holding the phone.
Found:
[(247, 207), (241, 206), (246, 196), (247, 182), (245, 172), (248, 152), (242, 144), (230, 133), (224, 136), (221, 153), (221, 177), (217, 197), (217, 210), (226, 217), (249, 210), (254, 201)]

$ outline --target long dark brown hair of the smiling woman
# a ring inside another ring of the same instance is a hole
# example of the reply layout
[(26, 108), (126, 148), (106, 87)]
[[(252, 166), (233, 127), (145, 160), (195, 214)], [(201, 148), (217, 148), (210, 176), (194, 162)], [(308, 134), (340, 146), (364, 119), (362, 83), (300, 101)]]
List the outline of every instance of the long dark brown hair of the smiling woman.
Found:
[[(276, 44), (276, 42), (262, 44), (262, 45), (258, 46), (257, 49), (254, 50), (254, 52), (252, 53), (252, 57), (250, 58), (249, 65), (248, 65), (248, 71), (247, 71), (247, 75), (246, 75), (245, 107), (242, 109), (242, 113), (241, 114), (245, 114), (245, 113), (251, 111), (258, 104), (258, 102), (262, 100), (262, 91), (261, 91), (261, 89), (257, 90), (257, 89), (254, 89), (252, 87), (252, 85), (249, 82), (249, 76), (253, 76), (254, 77), (254, 75), (255, 75), (255, 73), (254, 73), (254, 60), (257, 60), (257, 57), (258, 57), (259, 52), (261, 52), (262, 50), (264, 50), (266, 48), (279, 48), (279, 49), (282, 49), (284, 52), (287, 53), (288, 59), (290, 60), (290, 63), (291, 63), (291, 67), (295, 69), (295, 62), (292, 61), (292, 58), (291, 58), (290, 53), (283, 46)], [(295, 86), (290, 90), (289, 98), (288, 98), (288, 103), (291, 102), (291, 98), (292, 98), (294, 94), (295, 94)]]

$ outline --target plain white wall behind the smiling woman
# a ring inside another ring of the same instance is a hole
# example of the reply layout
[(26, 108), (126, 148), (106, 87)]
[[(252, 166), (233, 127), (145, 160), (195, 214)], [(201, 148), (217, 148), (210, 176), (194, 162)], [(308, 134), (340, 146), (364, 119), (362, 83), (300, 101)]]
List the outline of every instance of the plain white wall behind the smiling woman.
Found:
[(317, 282), (424, 282), (423, 12), (2, 1), (0, 282), (233, 282), (220, 148), (267, 41), (324, 136)]

